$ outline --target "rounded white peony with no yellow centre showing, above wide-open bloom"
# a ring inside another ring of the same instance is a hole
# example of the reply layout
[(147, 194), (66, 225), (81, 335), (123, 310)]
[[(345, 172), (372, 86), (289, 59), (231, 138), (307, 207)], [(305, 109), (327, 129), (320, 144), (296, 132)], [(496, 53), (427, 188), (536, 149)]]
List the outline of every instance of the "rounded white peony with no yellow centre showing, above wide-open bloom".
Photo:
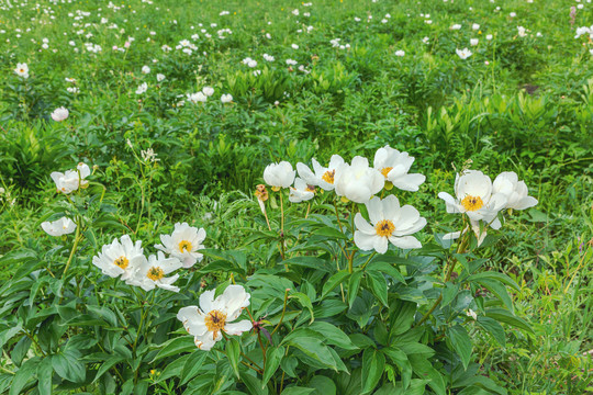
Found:
[(369, 166), (369, 160), (360, 156), (351, 165), (343, 163), (335, 176), (336, 194), (356, 203), (367, 203), (385, 185), (385, 178)]

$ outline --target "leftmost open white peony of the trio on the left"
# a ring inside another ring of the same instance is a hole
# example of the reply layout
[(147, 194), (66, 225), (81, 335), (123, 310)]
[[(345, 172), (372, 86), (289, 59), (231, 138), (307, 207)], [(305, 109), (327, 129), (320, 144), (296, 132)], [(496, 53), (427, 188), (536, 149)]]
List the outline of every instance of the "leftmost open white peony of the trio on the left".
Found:
[(146, 257), (143, 255), (142, 241), (134, 244), (127, 235), (120, 240), (113, 239), (110, 245), (104, 245), (101, 252), (92, 258), (92, 264), (101, 269), (103, 274), (112, 278), (121, 275), (122, 280), (127, 280), (146, 261)]

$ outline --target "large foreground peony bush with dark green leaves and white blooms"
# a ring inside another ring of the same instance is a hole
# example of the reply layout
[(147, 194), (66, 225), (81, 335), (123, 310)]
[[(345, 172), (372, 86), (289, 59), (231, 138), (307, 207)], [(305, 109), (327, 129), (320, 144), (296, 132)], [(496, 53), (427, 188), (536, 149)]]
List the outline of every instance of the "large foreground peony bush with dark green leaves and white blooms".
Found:
[(149, 246), (118, 224), (88, 165), (53, 172), (41, 227), (56, 247), (5, 258), (20, 267), (0, 289), (0, 342), (19, 369), (2, 368), (0, 384), (9, 394), (505, 394), (472, 353), (475, 334), (504, 346), (506, 328), (532, 328), (514, 314), (517, 284), (490, 270), (483, 246), (537, 200), (514, 172), (492, 181), (466, 166), (438, 194), (443, 216), (457, 215), (440, 234), (405, 202), (426, 180), (413, 163), (389, 146), (372, 166), (338, 155), (271, 163), (237, 250), (213, 248), (208, 224), (188, 223)]

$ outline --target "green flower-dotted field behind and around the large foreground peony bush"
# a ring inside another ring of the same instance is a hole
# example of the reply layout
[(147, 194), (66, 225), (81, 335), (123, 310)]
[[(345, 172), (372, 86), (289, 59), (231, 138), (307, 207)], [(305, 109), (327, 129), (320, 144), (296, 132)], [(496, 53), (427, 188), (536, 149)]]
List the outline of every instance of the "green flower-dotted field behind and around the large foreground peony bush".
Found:
[[(434, 195), (407, 200), (444, 232), (436, 194), (471, 159), (490, 173), (516, 171), (539, 200), (484, 252), (519, 283), (517, 313), (536, 335), (514, 330), (505, 347), (477, 339), (479, 361), (512, 393), (593, 391), (593, 43), (589, 33), (575, 38), (593, 24), (592, 3), (23, 1), (0, 10), (0, 257), (48, 245), (40, 228), (55, 195), (48, 174), (78, 161), (97, 166), (120, 224), (155, 238), (165, 221), (209, 221), (213, 240), (234, 248), (271, 160), (407, 150)], [(466, 47), (462, 59), (456, 49)], [(204, 87), (213, 95), (192, 103), (188, 94)], [(70, 116), (54, 122), (61, 105)], [(149, 148), (159, 162), (145, 172), (134, 156)], [(14, 270), (4, 266), (2, 279)]]

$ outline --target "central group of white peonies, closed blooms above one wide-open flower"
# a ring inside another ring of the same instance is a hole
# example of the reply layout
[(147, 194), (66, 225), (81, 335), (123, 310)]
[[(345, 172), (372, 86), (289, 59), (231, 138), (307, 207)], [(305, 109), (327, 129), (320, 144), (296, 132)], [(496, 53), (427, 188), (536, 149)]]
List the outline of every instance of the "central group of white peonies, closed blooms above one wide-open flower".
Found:
[[(376, 194), (393, 187), (403, 191), (417, 191), (426, 177), (410, 173), (414, 158), (389, 145), (374, 154), (373, 166), (367, 158), (357, 156), (346, 162), (339, 155), (332, 156), (327, 167), (312, 159), (313, 170), (305, 163), (296, 163), (296, 171), (287, 161), (271, 163), (264, 170), (264, 180), (273, 191), (290, 189), (292, 203), (309, 201), (315, 196), (316, 187), (334, 191), (343, 201), (365, 204), (369, 224), (360, 213), (355, 217), (354, 240), (361, 250), (384, 253), (389, 242), (403, 248), (419, 248), (421, 242), (411, 236), (426, 225), (418, 211), (411, 205), (400, 205), (394, 195), (385, 199)], [(299, 177), (295, 177), (295, 173)]]

